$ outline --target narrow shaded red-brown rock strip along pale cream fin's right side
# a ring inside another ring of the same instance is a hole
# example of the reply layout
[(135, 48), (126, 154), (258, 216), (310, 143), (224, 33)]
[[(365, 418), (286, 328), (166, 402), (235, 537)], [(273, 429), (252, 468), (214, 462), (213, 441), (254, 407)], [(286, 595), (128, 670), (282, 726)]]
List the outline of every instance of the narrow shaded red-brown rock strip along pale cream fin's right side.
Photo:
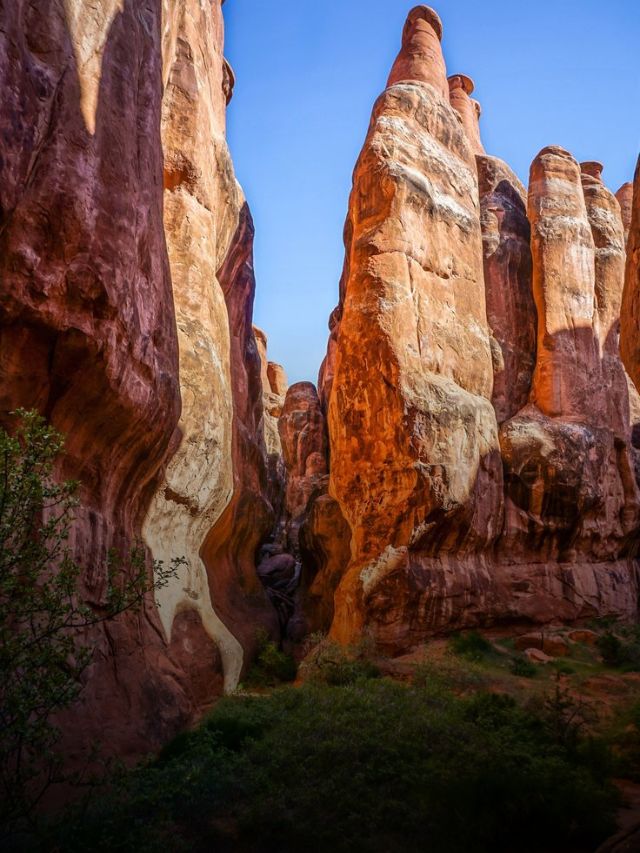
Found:
[[(256, 573), (256, 551), (273, 527), (282, 488), (273, 477), (269, 463), (274, 455), (265, 443), (264, 421), (273, 416), (264, 408), (262, 362), (251, 325), (253, 222), (246, 204), (217, 278), (231, 332), (233, 497), (203, 540), (200, 554), (214, 610), (240, 643), (244, 666), (256, 648), (257, 633), (278, 632), (276, 614)], [(279, 455), (275, 458), (279, 461)], [(226, 687), (233, 689), (241, 669), (224, 664)]]

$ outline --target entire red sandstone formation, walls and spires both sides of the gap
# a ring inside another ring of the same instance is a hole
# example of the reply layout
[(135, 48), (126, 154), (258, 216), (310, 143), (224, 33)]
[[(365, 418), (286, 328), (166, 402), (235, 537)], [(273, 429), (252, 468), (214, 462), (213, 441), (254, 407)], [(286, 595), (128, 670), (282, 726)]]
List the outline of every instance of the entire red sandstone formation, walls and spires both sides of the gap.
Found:
[[(252, 326), (218, 0), (0, 5), (0, 423), (38, 408), (81, 482), (71, 542), (184, 557), (92, 628), (70, 754), (159, 745), (258, 630), (430, 634), (637, 612), (640, 165), (484, 151), (427, 6), (373, 110), (318, 378)], [(625, 232), (628, 232), (625, 276)], [(634, 442), (637, 447), (634, 447)], [(256, 563), (258, 566), (256, 567)]]

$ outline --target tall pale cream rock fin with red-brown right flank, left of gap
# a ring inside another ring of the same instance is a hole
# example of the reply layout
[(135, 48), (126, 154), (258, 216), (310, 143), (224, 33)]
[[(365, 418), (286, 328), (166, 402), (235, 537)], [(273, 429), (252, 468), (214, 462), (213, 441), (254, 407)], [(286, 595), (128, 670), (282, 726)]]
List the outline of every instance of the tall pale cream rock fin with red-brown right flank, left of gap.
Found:
[(187, 561), (159, 595), (167, 639), (178, 614), (197, 611), (229, 689), (257, 627), (273, 624), (254, 566), (273, 510), (251, 326), (253, 223), (225, 140), (232, 75), (222, 45), (218, 3), (165, 9), (164, 224), (183, 407), (144, 536), (156, 559)]

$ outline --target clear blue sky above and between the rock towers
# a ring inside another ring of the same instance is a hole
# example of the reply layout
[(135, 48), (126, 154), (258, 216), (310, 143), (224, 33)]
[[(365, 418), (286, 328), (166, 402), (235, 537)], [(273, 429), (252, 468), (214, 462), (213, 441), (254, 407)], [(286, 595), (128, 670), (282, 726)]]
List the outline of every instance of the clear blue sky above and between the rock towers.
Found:
[[(228, 111), (256, 225), (255, 322), (291, 382), (316, 381), (338, 294), (351, 174), (407, 0), (227, 0)], [(601, 160), (613, 190), (640, 149), (640, 0), (440, 0), (449, 74), (526, 183), (545, 145)]]

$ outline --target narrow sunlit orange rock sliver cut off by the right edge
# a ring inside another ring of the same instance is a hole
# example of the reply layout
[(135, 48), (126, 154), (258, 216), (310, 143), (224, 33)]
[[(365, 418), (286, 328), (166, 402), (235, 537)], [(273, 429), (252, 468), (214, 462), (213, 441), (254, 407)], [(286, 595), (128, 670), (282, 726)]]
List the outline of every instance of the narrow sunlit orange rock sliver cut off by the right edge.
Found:
[(620, 351), (629, 376), (636, 388), (640, 389), (640, 158), (636, 166), (633, 201), (628, 222), (627, 271), (622, 298)]

